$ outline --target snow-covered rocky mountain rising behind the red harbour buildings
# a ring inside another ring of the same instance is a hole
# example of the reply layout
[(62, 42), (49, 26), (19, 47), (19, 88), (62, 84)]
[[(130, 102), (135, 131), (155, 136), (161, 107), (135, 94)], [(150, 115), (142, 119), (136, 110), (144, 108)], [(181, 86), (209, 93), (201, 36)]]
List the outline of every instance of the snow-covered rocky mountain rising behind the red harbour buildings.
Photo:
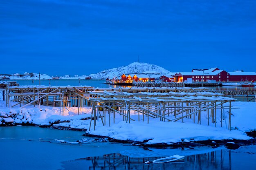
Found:
[(128, 66), (121, 66), (118, 68), (111, 68), (109, 70), (103, 70), (97, 74), (90, 74), (90, 77), (92, 79), (106, 79), (108, 77), (121, 77), (123, 74), (130, 74), (130, 73), (161, 73), (161, 74), (168, 74), (170, 71), (159, 67), (154, 64), (148, 64), (148, 63), (141, 63), (141, 62), (134, 62), (132, 64), (129, 64)]

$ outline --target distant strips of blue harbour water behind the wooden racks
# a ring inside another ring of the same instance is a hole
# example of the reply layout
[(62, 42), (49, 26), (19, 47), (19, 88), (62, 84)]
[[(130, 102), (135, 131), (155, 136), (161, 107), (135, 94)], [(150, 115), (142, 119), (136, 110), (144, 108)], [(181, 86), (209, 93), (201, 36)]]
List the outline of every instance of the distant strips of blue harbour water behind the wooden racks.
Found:
[[(17, 81), (21, 86), (22, 85), (39, 85), (39, 80), (14, 80)], [(98, 79), (59, 79), (59, 80), (41, 80), (40, 84), (45, 86), (93, 86), (93, 87), (119, 87), (119, 86), (111, 86), (109, 84), (104, 84), (106, 80), (98, 80)], [(210, 90), (244, 90), (251, 91), (256, 90), (256, 87), (235, 87), (235, 86), (217, 86), (217, 87), (209, 87)]]

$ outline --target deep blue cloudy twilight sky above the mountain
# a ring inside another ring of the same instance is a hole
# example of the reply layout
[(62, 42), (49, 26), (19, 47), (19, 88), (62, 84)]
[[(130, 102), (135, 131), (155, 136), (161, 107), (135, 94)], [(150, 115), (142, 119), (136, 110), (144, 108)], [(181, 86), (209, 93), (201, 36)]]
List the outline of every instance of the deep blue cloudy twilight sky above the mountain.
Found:
[(0, 73), (256, 71), (254, 0), (0, 0)]

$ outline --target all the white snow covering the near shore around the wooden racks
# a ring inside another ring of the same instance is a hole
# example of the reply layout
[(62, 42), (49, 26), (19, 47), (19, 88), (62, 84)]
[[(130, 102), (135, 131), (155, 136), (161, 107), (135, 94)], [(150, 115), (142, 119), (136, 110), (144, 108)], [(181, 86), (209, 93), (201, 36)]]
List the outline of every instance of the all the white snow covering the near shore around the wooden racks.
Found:
[[(1, 96), (1, 95), (0, 95)], [(149, 124), (147, 124), (147, 118), (142, 121), (142, 115), (140, 115), (140, 121), (138, 121), (138, 113), (131, 113), (131, 118), (136, 121), (126, 123), (123, 121), (123, 116), (115, 114), (115, 124), (113, 123), (113, 113), (109, 116), (106, 114), (106, 126), (103, 126), (101, 119), (96, 120), (97, 126), (95, 131), (93, 130), (93, 124), (91, 130), (87, 130), (88, 133), (93, 135), (101, 135), (111, 137), (120, 140), (133, 140), (144, 141), (149, 140), (148, 144), (158, 143), (176, 143), (185, 139), (188, 141), (198, 140), (221, 140), (221, 139), (251, 139), (245, 133), (245, 131), (256, 129), (256, 103), (255, 102), (232, 102), (232, 106), (236, 109), (231, 110), (231, 131), (227, 130), (228, 113), (224, 111), (226, 121), (223, 120), (223, 127), (220, 127), (220, 113), (217, 113), (217, 127), (215, 124), (207, 126), (207, 113), (202, 113), (202, 124), (194, 124), (192, 119), (184, 119), (184, 123), (181, 121), (167, 122), (160, 121), (159, 118), (150, 118)], [(52, 125), (61, 127), (70, 127), (77, 129), (89, 129), (91, 109), (84, 107), (79, 110), (78, 108), (71, 107), (65, 108), (64, 116), (60, 115), (59, 107), (47, 107), (47, 106), (27, 106), (20, 108), (15, 106), (9, 110), (6, 107), (5, 101), (0, 101), (0, 124), (4, 124), (4, 119), (13, 124), (32, 123), (36, 125)], [(173, 118), (173, 115), (170, 115)], [(103, 118), (104, 121), (104, 118)], [(93, 122), (93, 121), (92, 121)], [(211, 122), (211, 121), (210, 121)]]

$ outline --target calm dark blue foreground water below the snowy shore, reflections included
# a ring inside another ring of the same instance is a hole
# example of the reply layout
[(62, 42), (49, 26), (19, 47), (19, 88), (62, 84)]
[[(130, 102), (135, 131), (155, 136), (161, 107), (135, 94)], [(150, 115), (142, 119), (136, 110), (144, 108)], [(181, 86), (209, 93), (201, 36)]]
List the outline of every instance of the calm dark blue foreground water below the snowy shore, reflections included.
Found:
[[(0, 127), (1, 170), (241, 170), (255, 169), (256, 146), (226, 148), (156, 149), (110, 142), (56, 143), (76, 141), (83, 132), (32, 126)], [(88, 137), (87, 137), (88, 138)], [(88, 138), (91, 139), (91, 138)], [(146, 160), (184, 155), (179, 163), (148, 165)]]

